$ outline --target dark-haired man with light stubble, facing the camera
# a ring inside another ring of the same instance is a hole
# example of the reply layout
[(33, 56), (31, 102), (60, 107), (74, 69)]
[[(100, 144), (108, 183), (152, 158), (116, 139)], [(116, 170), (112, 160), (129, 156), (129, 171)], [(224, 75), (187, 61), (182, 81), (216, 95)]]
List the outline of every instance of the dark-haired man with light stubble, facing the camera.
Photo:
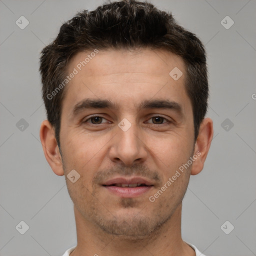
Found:
[(40, 72), (41, 143), (74, 204), (64, 256), (202, 255), (180, 231), (213, 135), (200, 40), (150, 3), (112, 2), (64, 23)]

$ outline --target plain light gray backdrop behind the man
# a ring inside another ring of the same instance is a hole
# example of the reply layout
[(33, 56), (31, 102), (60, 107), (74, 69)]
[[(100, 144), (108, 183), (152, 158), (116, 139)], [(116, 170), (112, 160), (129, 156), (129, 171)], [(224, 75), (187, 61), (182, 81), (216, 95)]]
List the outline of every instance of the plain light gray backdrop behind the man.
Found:
[[(206, 255), (256, 255), (256, 2), (151, 2), (196, 33), (208, 55), (214, 138), (203, 171), (190, 179), (182, 237)], [(62, 255), (76, 244), (64, 177), (52, 172), (39, 141), (45, 110), (38, 57), (61, 22), (102, 3), (0, 0), (0, 255)], [(24, 29), (15, 24), (21, 15), (29, 21)], [(229, 29), (220, 23), (226, 15), (234, 21)], [(23, 130), (16, 125), (21, 118), (28, 123)], [(29, 226), (23, 235), (15, 229), (21, 220)], [(229, 234), (220, 228), (226, 220), (234, 226)]]

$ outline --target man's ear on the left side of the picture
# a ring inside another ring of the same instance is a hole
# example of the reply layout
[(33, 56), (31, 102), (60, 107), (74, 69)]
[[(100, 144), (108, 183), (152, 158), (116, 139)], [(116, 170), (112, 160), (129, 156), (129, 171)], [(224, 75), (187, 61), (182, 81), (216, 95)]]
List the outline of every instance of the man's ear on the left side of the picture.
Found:
[(64, 175), (62, 159), (55, 138), (54, 128), (51, 126), (48, 120), (44, 120), (41, 123), (40, 140), (42, 143), (44, 156), (53, 172), (59, 176)]

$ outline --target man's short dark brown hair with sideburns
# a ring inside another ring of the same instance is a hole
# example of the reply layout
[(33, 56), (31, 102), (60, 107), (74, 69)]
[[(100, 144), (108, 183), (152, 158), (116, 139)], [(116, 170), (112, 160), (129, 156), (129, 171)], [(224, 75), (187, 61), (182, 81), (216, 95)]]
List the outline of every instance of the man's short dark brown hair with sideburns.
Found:
[(191, 100), (194, 139), (207, 110), (208, 80), (205, 50), (195, 34), (178, 25), (170, 12), (148, 2), (122, 0), (83, 10), (63, 23), (57, 37), (41, 51), (42, 98), (58, 145), (64, 89), (49, 94), (65, 79), (68, 60), (81, 50), (113, 48), (165, 49), (181, 56), (185, 87)]

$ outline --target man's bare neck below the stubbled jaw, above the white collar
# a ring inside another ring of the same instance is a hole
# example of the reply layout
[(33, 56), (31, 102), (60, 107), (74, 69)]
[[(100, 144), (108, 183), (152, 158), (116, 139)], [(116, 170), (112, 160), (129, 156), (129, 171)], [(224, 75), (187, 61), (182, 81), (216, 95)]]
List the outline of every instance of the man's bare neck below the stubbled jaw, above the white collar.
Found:
[(71, 256), (78, 255), (118, 255), (128, 256), (148, 254), (162, 256), (195, 256), (194, 250), (181, 238), (181, 203), (171, 218), (158, 228), (150, 237), (143, 239), (123, 238), (105, 233), (98, 226), (83, 218), (74, 207), (77, 246)]

